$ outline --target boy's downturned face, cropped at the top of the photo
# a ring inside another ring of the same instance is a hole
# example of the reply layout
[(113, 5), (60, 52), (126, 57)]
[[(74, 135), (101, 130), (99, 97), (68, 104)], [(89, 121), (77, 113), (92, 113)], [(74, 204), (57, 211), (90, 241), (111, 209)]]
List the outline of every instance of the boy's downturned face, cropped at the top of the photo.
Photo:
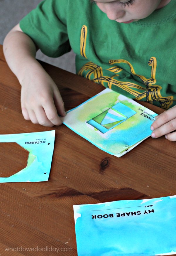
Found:
[(106, 13), (110, 20), (130, 23), (148, 17), (156, 9), (167, 5), (171, 0), (97, 0), (92, 1)]

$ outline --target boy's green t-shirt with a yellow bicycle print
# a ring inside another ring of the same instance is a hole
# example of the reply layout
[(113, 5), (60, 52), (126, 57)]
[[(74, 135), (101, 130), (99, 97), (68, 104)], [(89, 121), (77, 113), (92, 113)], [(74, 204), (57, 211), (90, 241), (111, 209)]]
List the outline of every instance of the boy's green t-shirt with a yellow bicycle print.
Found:
[(89, 0), (45, 0), (20, 21), (45, 55), (72, 48), (78, 75), (164, 109), (176, 105), (175, 25), (175, 0), (128, 24)]

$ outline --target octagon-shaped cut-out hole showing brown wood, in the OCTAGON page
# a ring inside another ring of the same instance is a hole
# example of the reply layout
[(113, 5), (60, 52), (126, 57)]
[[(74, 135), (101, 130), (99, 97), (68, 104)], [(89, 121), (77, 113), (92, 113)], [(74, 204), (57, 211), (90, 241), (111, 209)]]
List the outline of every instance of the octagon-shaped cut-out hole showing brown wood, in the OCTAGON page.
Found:
[(27, 166), (29, 151), (16, 142), (1, 142), (0, 152), (0, 177), (10, 177)]

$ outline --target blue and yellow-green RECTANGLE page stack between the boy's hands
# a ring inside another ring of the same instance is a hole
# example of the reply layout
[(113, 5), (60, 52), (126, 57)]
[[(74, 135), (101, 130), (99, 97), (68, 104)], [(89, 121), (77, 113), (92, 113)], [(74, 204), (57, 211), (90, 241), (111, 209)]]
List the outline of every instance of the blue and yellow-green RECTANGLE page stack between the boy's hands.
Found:
[(107, 88), (68, 111), (63, 123), (98, 148), (120, 157), (151, 135), (156, 115)]

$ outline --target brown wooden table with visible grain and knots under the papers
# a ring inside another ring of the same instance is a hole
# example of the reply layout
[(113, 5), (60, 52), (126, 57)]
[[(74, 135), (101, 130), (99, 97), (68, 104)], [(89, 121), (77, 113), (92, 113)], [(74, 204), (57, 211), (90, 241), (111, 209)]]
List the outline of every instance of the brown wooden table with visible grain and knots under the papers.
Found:
[[(104, 89), (60, 68), (42, 65), (58, 85), (66, 110)], [(0, 184), (0, 255), (77, 255), (73, 205), (176, 194), (176, 142), (150, 137), (117, 158), (65, 125), (48, 128), (26, 121), (21, 114), (20, 91), (0, 46), (0, 134), (56, 132), (49, 181)], [(1, 144), (1, 177), (26, 166), (23, 152)], [(18, 158), (19, 154), (22, 157)], [(9, 252), (4, 248), (10, 248)]]

